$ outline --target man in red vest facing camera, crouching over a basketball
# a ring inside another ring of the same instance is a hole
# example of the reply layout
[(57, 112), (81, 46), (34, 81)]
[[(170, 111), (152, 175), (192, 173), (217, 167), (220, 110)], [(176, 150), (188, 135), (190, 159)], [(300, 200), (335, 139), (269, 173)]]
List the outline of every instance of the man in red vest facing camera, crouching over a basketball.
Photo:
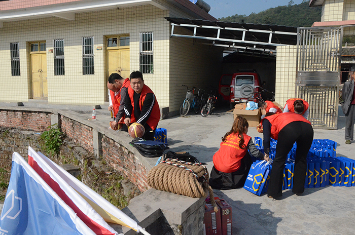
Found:
[(160, 108), (153, 91), (144, 84), (143, 74), (133, 71), (129, 75), (130, 86), (127, 89), (130, 102), (125, 102), (126, 119), (125, 124), (139, 123), (143, 125), (146, 132), (145, 140), (153, 140), (155, 130), (160, 120)]

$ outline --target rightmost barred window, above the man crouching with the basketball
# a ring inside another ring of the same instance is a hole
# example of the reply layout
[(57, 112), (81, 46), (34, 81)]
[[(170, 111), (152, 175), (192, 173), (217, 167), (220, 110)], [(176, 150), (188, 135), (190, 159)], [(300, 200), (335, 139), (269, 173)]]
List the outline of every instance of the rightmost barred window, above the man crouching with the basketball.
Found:
[(139, 40), (139, 70), (153, 73), (153, 32), (141, 32)]

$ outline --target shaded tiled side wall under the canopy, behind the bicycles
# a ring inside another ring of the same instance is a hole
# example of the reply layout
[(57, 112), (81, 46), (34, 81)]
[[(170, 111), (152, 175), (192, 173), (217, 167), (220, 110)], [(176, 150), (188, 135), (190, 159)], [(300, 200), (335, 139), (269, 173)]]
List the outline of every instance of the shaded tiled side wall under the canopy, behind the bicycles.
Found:
[(218, 88), (222, 49), (202, 43), (206, 41), (183, 37), (170, 40), (170, 109), (179, 109), (185, 99), (187, 89), (182, 85), (202, 88), (206, 93), (211, 86)]

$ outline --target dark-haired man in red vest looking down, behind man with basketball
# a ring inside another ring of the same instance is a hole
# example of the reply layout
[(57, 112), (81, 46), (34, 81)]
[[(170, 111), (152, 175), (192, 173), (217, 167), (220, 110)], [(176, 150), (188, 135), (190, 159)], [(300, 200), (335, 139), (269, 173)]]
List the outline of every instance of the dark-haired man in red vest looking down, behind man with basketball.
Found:
[[(118, 123), (123, 123), (124, 120), (124, 104), (127, 101), (127, 88), (129, 87), (129, 79), (124, 79), (118, 73), (112, 73), (109, 76), (108, 88), (110, 89), (110, 97), (112, 101), (112, 109), (114, 111), (115, 121), (113, 122), (113, 128), (118, 127)], [(110, 87), (109, 87), (110, 86)], [(129, 100), (127, 101), (129, 102)], [(110, 102), (111, 107), (111, 102)], [(109, 110), (110, 110), (109, 107)], [(127, 131), (127, 127), (123, 126), (123, 131)]]

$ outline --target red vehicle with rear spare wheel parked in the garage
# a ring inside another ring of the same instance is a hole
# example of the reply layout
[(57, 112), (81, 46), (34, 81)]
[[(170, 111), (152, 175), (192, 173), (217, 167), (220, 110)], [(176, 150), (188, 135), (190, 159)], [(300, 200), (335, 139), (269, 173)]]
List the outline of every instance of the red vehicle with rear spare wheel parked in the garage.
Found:
[[(229, 83), (229, 91), (227, 87)], [(261, 91), (260, 76), (256, 70), (240, 69), (233, 74), (223, 74), (220, 78), (219, 93), (230, 102), (235, 103), (254, 101), (254, 92)]]

